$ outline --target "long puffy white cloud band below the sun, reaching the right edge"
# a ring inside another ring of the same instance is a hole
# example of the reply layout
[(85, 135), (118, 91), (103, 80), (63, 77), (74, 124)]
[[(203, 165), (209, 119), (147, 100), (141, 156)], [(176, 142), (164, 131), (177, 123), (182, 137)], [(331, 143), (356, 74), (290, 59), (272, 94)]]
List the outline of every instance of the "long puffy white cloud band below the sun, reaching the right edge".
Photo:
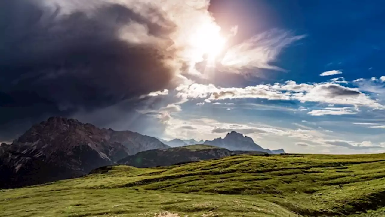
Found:
[(244, 88), (221, 88), (213, 84), (183, 85), (177, 88), (177, 96), (184, 100), (205, 98), (206, 101), (223, 99), (258, 98), (268, 100), (298, 100), (336, 105), (367, 106), (383, 109), (378, 103), (358, 88), (349, 88), (338, 83), (297, 84), (295, 81), (285, 83), (259, 84)]

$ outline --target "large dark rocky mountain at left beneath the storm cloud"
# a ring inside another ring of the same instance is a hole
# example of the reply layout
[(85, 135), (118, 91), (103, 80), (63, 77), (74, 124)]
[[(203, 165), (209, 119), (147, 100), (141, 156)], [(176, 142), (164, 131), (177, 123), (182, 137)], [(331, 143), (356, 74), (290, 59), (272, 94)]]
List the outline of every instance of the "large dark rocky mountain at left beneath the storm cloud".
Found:
[(12, 144), (0, 146), (0, 187), (20, 187), (87, 174), (149, 149), (167, 148), (131, 131), (99, 129), (75, 119), (49, 118)]

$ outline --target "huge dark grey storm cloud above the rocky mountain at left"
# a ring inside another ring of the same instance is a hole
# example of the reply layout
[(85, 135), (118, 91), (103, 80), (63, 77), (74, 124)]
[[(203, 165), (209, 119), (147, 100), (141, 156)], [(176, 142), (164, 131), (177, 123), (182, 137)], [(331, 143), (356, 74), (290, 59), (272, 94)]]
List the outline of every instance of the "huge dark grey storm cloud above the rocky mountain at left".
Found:
[[(166, 49), (172, 45), (167, 35), (175, 26), (156, 8), (157, 22), (151, 22), (119, 4), (62, 13), (42, 2), (0, 1), (0, 141), (49, 116), (120, 109), (121, 101), (169, 85), (174, 68), (166, 62), (174, 50)], [(131, 23), (162, 43), (122, 38)], [(145, 100), (121, 109), (133, 111)]]

